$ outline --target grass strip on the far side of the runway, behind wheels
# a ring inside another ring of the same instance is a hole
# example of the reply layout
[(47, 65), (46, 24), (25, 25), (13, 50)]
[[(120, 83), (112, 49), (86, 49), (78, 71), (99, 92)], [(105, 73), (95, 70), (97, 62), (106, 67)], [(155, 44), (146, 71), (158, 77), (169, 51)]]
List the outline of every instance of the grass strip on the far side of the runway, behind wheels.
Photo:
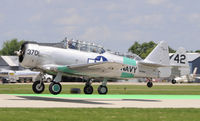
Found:
[[(49, 94), (48, 84), (43, 94)], [(98, 85), (93, 85), (94, 94)], [(84, 84), (63, 85), (61, 94), (69, 94), (71, 88), (83, 90)], [(146, 85), (108, 85), (108, 94), (145, 94), (145, 95), (200, 95), (200, 85), (155, 85), (152, 88)], [(83, 91), (81, 91), (83, 93)], [(33, 94), (31, 84), (5, 84), (0, 85), (0, 94)]]

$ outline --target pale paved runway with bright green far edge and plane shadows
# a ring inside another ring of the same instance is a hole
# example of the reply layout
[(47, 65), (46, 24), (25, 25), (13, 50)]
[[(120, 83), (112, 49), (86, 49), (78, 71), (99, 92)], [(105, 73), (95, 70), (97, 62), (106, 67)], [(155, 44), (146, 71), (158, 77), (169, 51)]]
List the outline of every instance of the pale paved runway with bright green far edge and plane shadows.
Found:
[(30, 108), (200, 108), (199, 95), (1, 94), (0, 107)]

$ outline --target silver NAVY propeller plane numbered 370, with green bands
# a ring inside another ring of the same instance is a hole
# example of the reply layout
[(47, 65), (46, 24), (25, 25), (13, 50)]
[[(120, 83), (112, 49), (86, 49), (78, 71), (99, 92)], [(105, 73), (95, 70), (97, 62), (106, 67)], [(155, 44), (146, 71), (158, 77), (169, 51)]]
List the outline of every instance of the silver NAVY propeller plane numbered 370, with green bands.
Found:
[[(63, 76), (83, 77), (87, 79), (84, 93), (92, 94), (93, 79), (102, 80), (98, 87), (99, 94), (106, 94), (107, 80), (128, 80), (132, 78), (149, 78), (148, 87), (152, 87), (151, 78), (161, 77), (160, 68), (170, 67), (168, 45), (160, 42), (146, 59), (137, 61), (130, 57), (119, 56), (105, 51), (102, 47), (82, 41), (67, 40), (64, 47), (52, 47), (36, 42), (25, 42), (18, 52), (19, 62), (23, 67), (39, 70), (41, 78), (35, 81), (32, 89), (42, 93), (45, 85), (44, 73), (54, 75), (49, 85), (52, 94), (59, 94), (62, 86), (59, 83)], [(169, 75), (166, 75), (166, 77)]]

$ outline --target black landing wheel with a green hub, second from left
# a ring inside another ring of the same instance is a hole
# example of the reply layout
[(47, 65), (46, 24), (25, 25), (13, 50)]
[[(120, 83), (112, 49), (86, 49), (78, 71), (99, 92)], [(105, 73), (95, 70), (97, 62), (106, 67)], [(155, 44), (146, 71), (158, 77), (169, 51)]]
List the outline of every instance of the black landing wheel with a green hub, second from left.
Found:
[(51, 94), (57, 95), (62, 91), (62, 86), (59, 82), (52, 82), (49, 85), (49, 92)]

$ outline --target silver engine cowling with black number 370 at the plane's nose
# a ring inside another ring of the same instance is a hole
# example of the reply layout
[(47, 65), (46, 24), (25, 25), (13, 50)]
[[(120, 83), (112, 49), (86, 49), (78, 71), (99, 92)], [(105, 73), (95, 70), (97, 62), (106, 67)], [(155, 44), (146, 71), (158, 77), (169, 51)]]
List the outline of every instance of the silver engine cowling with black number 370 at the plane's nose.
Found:
[(35, 68), (39, 54), (39, 45), (36, 42), (24, 42), (19, 51), (19, 62), (23, 67)]

